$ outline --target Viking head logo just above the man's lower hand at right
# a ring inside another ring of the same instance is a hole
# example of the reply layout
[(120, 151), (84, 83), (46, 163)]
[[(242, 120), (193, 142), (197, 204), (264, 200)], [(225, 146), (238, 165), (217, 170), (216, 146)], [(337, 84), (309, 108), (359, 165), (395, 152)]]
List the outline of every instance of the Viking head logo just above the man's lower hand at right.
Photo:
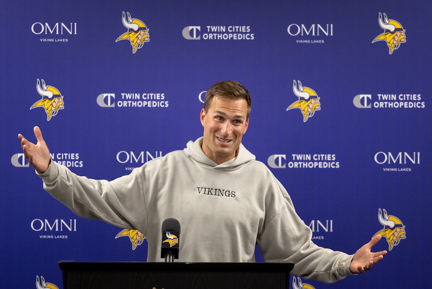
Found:
[(388, 250), (390, 251), (399, 244), (401, 239), (405, 239), (405, 226), (395, 216), (387, 215), (385, 209), (383, 211), (384, 216), (381, 215), (381, 209), (378, 209), (378, 220), (384, 229), (377, 232), (375, 236), (380, 234), (387, 238)]

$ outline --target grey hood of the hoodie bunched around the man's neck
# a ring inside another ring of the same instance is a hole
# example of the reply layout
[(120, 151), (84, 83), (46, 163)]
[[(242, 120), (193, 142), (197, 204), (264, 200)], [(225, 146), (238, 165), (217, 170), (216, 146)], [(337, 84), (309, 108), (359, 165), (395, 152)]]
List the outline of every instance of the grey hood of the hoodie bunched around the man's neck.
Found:
[(210, 160), (209, 157), (204, 154), (203, 149), (201, 148), (201, 144), (203, 144), (203, 137), (198, 138), (196, 141), (189, 141), (186, 144), (186, 148), (184, 148), (184, 152), (191, 157), (194, 161), (202, 164), (206, 167), (212, 167), (217, 170), (237, 170), (242, 165), (246, 164), (248, 161), (254, 161), (255, 156), (251, 154), (243, 144), (240, 144), (238, 147), (237, 156), (232, 158), (229, 161), (226, 161), (222, 164), (216, 164), (214, 161)]

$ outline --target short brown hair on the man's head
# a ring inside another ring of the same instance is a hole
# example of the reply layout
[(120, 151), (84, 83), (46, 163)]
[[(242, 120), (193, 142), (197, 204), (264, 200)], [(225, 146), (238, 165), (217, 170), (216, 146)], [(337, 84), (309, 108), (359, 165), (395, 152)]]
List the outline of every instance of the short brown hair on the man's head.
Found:
[(251, 96), (249, 95), (249, 91), (243, 85), (241, 85), (241, 83), (233, 80), (226, 80), (213, 84), (207, 90), (206, 96), (204, 96), (204, 110), (206, 112), (210, 108), (215, 96), (226, 97), (231, 100), (246, 100), (248, 105), (246, 119), (249, 119), (252, 106)]

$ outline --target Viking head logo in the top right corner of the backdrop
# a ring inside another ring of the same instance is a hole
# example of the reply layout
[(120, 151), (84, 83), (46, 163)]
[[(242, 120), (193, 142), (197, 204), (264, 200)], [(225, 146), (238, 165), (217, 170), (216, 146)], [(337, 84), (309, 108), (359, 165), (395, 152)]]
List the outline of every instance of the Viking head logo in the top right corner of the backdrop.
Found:
[(384, 20), (382, 19), (381, 13), (378, 17), (379, 26), (384, 29), (384, 33), (378, 35), (372, 43), (377, 41), (385, 41), (388, 46), (388, 54), (392, 54), (397, 48), (399, 48), (400, 43), (407, 42), (405, 39), (405, 30), (399, 22), (393, 19), (388, 19), (387, 15), (384, 13)]

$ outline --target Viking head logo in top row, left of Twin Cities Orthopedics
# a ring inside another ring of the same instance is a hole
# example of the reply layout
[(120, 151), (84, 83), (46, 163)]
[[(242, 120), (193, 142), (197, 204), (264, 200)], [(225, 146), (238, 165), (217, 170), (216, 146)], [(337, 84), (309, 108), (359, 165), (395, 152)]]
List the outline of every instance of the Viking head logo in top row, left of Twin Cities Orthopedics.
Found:
[(124, 14), (123, 11), (123, 17), (121, 20), (124, 27), (127, 28), (127, 32), (122, 34), (115, 42), (128, 39), (130, 45), (133, 47), (132, 52), (135, 53), (137, 52), (137, 49), (143, 47), (144, 42), (150, 41), (149, 29), (141, 20), (130, 17), (129, 12), (127, 13), (127, 19), (128, 20), (126, 20), (126, 14)]

